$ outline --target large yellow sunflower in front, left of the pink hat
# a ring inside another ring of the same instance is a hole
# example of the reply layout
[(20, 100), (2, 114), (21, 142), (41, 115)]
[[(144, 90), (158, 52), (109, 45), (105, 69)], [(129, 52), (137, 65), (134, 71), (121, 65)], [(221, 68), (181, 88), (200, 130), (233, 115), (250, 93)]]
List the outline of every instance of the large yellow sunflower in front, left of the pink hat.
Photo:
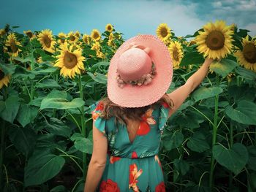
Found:
[(65, 43), (61, 47), (61, 54), (57, 56), (58, 60), (54, 66), (61, 68), (61, 74), (64, 77), (74, 78), (75, 74), (80, 74), (84, 70), (82, 50)]

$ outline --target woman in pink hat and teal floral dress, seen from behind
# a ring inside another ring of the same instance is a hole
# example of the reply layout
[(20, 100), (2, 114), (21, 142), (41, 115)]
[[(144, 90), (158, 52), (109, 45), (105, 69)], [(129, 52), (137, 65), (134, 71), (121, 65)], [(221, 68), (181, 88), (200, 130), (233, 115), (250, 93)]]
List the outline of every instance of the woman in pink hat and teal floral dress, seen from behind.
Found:
[(167, 94), (172, 61), (157, 37), (139, 35), (118, 48), (108, 69), (108, 97), (91, 105), (94, 147), (84, 191), (165, 191), (157, 155), (163, 128), (211, 62), (207, 58)]

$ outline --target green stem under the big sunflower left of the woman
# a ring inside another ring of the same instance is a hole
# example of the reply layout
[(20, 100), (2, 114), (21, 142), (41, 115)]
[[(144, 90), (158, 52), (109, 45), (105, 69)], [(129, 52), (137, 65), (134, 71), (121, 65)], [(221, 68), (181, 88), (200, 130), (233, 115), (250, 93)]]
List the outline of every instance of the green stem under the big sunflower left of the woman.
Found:
[[(80, 75), (78, 75), (78, 86), (79, 86), (80, 98), (83, 99), (83, 86), (82, 86), (82, 78)], [(82, 126), (81, 134), (83, 135), (83, 137), (86, 137), (86, 124), (85, 124), (86, 120), (83, 114), (84, 112), (83, 106), (80, 107), (80, 110), (81, 110), (81, 126)], [(86, 153), (83, 153), (83, 176), (85, 175), (86, 175)]]

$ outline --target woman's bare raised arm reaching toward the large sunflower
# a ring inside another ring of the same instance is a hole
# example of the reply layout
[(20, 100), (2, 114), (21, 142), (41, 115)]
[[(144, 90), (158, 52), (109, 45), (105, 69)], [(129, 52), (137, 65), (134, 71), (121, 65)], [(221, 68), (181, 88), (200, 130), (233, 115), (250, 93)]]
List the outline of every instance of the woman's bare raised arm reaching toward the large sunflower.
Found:
[(206, 58), (203, 65), (200, 66), (200, 69), (197, 70), (192, 76), (189, 77), (187, 82), (182, 85), (181, 87), (177, 88), (172, 93), (167, 94), (170, 99), (173, 100), (174, 107), (169, 112), (169, 117), (172, 115), (176, 110), (178, 110), (179, 107), (181, 107), (181, 104), (187, 99), (190, 93), (194, 91), (194, 89), (203, 81), (203, 79), (206, 77), (209, 71), (209, 66), (212, 63), (213, 59)]

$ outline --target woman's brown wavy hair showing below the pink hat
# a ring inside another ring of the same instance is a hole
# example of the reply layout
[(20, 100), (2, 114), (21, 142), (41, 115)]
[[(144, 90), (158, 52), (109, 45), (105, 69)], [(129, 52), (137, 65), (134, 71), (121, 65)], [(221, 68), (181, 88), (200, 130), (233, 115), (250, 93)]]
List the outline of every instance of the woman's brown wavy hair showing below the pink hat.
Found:
[(111, 117), (116, 117), (118, 121), (121, 123), (125, 123), (127, 125), (127, 119), (132, 120), (142, 120), (141, 115), (143, 115), (146, 110), (152, 108), (155, 109), (157, 105), (162, 104), (165, 102), (170, 108), (173, 108), (173, 101), (170, 99), (169, 96), (165, 93), (161, 99), (159, 99), (154, 104), (147, 105), (145, 107), (120, 107), (118, 104), (114, 104), (110, 99), (107, 97), (101, 99), (102, 104), (104, 106), (104, 110), (100, 115), (101, 118), (109, 119)]

